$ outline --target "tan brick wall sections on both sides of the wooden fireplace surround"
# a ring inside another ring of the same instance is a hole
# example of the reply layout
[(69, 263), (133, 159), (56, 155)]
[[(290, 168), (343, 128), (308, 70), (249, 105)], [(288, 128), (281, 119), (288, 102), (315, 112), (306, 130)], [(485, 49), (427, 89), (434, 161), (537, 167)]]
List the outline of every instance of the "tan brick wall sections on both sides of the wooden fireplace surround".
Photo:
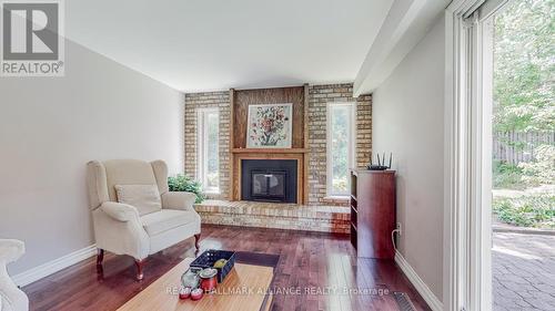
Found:
[[(353, 97), (353, 84), (309, 86), (309, 204), (341, 204), (324, 200), (326, 195), (326, 104), (329, 102), (356, 102), (356, 162), (364, 167), (372, 147), (372, 96)], [(196, 178), (196, 108), (220, 108), (220, 189), (219, 196), (229, 197), (229, 92), (185, 94), (185, 174)]]

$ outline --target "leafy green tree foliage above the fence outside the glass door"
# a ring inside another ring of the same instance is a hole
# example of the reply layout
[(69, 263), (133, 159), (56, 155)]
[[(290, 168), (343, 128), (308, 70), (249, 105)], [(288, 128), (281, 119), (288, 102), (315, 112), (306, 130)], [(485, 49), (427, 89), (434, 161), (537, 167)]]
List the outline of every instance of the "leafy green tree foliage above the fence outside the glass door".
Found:
[(555, 131), (555, 0), (519, 0), (495, 19), (494, 132)]

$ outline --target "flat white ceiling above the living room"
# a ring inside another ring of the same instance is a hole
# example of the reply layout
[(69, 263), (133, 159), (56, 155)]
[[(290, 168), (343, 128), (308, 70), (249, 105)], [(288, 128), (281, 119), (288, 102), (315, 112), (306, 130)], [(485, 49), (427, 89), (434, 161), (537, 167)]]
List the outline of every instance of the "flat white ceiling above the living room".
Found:
[(71, 0), (65, 34), (184, 92), (354, 81), (393, 0)]

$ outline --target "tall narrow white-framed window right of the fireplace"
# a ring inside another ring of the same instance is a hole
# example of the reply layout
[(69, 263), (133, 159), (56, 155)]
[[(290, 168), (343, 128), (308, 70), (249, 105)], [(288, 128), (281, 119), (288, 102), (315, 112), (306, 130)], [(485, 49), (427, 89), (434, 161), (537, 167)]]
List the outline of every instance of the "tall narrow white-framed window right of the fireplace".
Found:
[(349, 196), (355, 155), (355, 104), (327, 104), (327, 196)]

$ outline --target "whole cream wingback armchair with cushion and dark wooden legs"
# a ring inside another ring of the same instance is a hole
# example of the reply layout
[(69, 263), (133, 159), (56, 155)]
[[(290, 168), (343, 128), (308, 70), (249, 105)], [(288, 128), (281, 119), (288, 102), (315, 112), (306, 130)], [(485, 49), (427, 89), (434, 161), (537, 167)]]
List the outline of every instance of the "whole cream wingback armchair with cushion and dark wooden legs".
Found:
[(193, 236), (199, 249), (196, 195), (169, 191), (164, 162), (112, 159), (87, 166), (99, 267), (104, 250), (129, 255), (135, 259), (137, 279), (142, 280), (149, 255)]

